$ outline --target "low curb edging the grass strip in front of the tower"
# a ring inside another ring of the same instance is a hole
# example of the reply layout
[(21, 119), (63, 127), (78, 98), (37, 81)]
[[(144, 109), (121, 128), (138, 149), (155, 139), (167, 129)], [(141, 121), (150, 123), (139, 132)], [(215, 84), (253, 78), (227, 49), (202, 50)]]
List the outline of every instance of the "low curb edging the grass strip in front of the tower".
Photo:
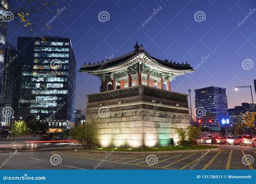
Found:
[[(171, 154), (171, 153), (199, 153), (199, 152), (212, 152), (212, 151), (220, 151), (221, 148), (210, 148), (210, 149), (201, 149), (201, 150), (177, 150), (177, 151), (113, 151), (112, 153), (116, 154)], [(96, 150), (78, 150), (75, 149), (75, 152), (86, 152), (86, 153), (106, 153), (109, 151), (96, 151)]]

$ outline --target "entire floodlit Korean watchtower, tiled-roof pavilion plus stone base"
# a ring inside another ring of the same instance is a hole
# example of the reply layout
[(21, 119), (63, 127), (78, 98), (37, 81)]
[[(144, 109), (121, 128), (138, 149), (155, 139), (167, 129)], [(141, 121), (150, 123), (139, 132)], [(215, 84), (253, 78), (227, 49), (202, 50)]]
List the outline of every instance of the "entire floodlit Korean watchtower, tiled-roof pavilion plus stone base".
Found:
[(87, 94), (86, 122), (96, 122), (102, 147), (157, 147), (177, 144), (176, 129), (190, 125), (187, 94), (171, 91), (188, 63), (154, 58), (138, 43), (134, 51), (79, 72), (98, 76), (100, 93)]

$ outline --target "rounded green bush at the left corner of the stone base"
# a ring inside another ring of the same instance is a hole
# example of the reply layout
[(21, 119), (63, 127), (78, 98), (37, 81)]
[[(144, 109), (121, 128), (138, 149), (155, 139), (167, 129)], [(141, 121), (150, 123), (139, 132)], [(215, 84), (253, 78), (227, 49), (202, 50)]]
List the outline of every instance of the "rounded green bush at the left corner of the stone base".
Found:
[(69, 133), (73, 139), (79, 140), (82, 143), (84, 149), (91, 149), (98, 145), (98, 126), (93, 121), (77, 125), (70, 129)]

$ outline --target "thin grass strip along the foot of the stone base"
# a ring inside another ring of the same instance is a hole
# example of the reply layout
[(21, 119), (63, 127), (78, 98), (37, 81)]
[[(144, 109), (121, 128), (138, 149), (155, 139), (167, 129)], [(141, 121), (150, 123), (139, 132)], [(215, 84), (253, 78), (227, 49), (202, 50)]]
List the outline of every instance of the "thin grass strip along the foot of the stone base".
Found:
[(177, 150), (202, 150), (202, 149), (211, 149), (218, 148), (217, 146), (209, 146), (209, 145), (197, 145), (197, 146), (166, 146), (166, 147), (150, 147), (150, 148), (95, 148), (92, 150), (95, 151), (177, 151)]

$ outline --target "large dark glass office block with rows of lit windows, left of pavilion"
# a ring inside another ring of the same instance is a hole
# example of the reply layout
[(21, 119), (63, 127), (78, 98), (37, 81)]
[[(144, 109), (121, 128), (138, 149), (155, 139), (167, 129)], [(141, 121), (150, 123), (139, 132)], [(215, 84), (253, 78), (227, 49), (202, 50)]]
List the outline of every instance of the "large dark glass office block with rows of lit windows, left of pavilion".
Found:
[(49, 122), (50, 131), (75, 123), (76, 60), (69, 38), (18, 37), (21, 78), (15, 113)]

